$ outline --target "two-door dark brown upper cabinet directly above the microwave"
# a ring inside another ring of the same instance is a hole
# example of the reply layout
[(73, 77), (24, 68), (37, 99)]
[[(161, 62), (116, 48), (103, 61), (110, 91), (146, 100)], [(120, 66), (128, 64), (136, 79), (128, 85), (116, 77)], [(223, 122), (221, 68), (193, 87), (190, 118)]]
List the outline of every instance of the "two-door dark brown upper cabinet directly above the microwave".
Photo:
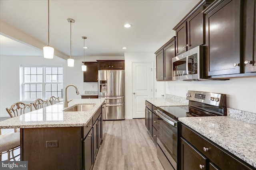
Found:
[(213, 0), (201, 0), (173, 29), (176, 31), (176, 55), (205, 43), (202, 11)]

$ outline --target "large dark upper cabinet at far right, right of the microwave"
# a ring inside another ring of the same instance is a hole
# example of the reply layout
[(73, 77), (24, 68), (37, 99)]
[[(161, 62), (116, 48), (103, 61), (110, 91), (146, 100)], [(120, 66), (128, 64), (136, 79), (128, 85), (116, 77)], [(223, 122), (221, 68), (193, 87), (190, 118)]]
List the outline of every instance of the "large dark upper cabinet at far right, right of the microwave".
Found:
[(256, 75), (255, 8), (255, 0), (216, 0), (204, 11), (211, 78)]

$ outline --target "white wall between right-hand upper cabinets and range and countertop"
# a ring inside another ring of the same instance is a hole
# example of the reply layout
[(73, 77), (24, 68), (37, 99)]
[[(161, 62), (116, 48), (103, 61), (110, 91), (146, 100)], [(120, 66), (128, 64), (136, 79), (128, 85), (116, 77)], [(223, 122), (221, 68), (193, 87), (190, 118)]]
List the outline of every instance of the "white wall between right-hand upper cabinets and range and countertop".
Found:
[(188, 90), (226, 94), (227, 107), (256, 113), (256, 77), (232, 78), (226, 81), (165, 83), (166, 94), (184, 98)]

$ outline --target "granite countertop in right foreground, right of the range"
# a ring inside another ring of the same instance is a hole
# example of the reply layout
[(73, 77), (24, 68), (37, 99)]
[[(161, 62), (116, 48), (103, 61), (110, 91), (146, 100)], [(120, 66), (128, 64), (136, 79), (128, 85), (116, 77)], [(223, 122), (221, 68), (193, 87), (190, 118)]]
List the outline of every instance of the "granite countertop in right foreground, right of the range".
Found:
[(256, 168), (256, 125), (229, 116), (181, 117), (179, 121)]

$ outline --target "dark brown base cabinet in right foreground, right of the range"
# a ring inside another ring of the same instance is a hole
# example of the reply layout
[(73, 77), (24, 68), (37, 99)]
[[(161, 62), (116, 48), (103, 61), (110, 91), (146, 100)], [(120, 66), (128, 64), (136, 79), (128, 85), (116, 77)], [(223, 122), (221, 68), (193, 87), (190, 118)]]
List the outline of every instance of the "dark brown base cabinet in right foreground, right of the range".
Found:
[(222, 149), (184, 124), (180, 125), (181, 170), (253, 170), (252, 166)]

